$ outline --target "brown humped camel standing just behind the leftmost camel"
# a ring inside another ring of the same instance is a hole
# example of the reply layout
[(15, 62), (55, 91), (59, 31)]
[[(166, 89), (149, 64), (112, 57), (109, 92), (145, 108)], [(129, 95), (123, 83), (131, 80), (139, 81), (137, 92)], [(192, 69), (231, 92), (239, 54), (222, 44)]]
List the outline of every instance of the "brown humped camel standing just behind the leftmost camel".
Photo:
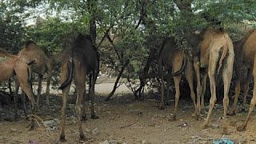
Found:
[[(29, 62), (32, 59), (35, 61), (31, 65), (31, 70), (38, 74), (38, 98), (36, 106), (39, 106), (39, 98), (41, 97), (42, 91), (42, 77), (43, 74), (47, 73), (47, 82), (46, 82), (46, 106), (49, 107), (49, 94), (50, 94), (50, 78), (53, 74), (53, 66), (51, 59), (47, 57), (44, 50), (39, 48), (34, 42), (26, 42), (26, 45), (18, 53), (18, 56), (21, 57), (25, 62)], [(18, 93), (19, 84), (16, 84), (16, 94)]]

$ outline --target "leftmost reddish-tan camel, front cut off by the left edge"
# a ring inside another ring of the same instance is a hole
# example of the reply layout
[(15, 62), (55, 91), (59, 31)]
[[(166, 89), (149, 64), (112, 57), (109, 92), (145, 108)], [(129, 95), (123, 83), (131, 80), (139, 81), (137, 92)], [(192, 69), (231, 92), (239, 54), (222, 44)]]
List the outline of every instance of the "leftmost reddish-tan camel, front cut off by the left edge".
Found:
[[(33, 60), (26, 63), (22, 61), (22, 58), (18, 56), (8, 54), (4, 50), (0, 50), (0, 82), (14, 77), (16, 75), (18, 82), (22, 86), (22, 90), (25, 91), (27, 97), (30, 99), (31, 106), (32, 106), (32, 114), (34, 114), (35, 106), (34, 106), (34, 96), (31, 86), (31, 71), (30, 65)], [(15, 103), (17, 103), (17, 97), (14, 97)], [(15, 118), (17, 117), (17, 105), (15, 106)], [(32, 120), (32, 128), (34, 126), (34, 121)]]

